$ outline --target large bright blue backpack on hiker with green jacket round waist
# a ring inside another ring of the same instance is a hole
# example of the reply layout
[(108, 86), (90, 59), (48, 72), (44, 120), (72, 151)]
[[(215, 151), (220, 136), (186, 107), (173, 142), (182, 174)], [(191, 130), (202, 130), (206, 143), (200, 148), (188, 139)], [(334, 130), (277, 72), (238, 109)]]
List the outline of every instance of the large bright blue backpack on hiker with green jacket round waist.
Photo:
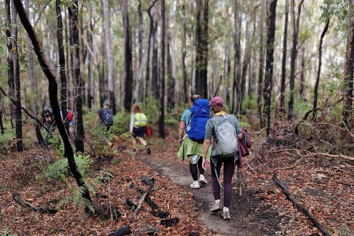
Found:
[(204, 140), (206, 122), (210, 119), (209, 101), (207, 99), (196, 99), (189, 117), (188, 124), (190, 129), (187, 131), (188, 138), (191, 140)]

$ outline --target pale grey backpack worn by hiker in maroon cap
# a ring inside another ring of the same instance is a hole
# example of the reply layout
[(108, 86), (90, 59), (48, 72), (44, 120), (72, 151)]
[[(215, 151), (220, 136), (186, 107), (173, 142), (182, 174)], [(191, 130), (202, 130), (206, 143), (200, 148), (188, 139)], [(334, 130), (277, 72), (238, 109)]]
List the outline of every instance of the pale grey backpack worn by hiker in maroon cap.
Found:
[(233, 157), (238, 152), (237, 147), (237, 133), (235, 122), (229, 115), (224, 115), (224, 119), (221, 122), (211, 122), (215, 128), (215, 134), (217, 143), (215, 144), (215, 154), (223, 157)]

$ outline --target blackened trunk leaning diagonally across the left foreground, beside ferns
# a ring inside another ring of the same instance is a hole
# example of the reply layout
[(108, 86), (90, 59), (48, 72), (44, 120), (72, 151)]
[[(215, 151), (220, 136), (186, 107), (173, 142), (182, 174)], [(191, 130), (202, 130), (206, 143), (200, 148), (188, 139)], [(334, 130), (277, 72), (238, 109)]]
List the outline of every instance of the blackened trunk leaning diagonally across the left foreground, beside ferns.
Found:
[[(49, 82), (49, 86), (48, 86), (49, 99), (50, 99), (51, 107), (53, 109), (53, 115), (54, 115), (55, 122), (58, 126), (60, 136), (63, 139), (64, 157), (66, 157), (68, 159), (68, 166), (69, 166), (69, 169), (72, 172), (72, 174), (76, 180), (76, 183), (78, 184), (78, 186), (84, 188), (84, 192), (82, 193), (81, 196), (86, 198), (87, 201), (89, 202), (89, 204), (92, 206), (90, 193), (84, 187), (85, 181), (82, 181), (83, 180), (82, 175), (81, 175), (78, 167), (76, 166), (73, 148), (70, 144), (69, 136), (65, 130), (65, 127), (64, 127), (61, 115), (60, 115), (60, 108), (59, 108), (59, 103), (58, 103), (58, 86), (55, 81), (55, 76), (53, 75), (51, 69), (48, 66), (47, 59), (45, 58), (45, 55), (43, 52), (43, 47), (42, 47), (40, 41), (38, 40), (37, 35), (32, 28), (32, 25), (29, 23), (29, 19), (25, 13), (25, 10), (23, 8), (21, 0), (14, 0), (14, 3), (15, 3), (15, 7), (18, 11), (19, 18), (21, 19), (22, 25), (25, 28), (25, 30), (27, 31), (27, 33), (32, 41), (34, 51), (38, 57), (39, 64), (41, 65), (41, 68), (42, 68), (42, 70), (43, 70), (44, 74), (46, 75), (48, 82)], [(85, 205), (86, 211), (89, 211), (89, 208), (87, 206), (88, 205)]]

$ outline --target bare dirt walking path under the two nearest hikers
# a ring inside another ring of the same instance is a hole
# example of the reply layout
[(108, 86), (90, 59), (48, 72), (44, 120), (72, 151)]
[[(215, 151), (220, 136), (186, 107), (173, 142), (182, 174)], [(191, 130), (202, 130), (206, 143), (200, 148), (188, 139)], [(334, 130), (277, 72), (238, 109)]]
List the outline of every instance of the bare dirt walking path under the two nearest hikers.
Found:
[[(147, 163), (158, 173), (165, 175), (166, 178), (179, 186), (185, 191), (193, 192), (196, 205), (202, 211), (200, 221), (210, 230), (215, 231), (216, 235), (232, 235), (232, 236), (260, 236), (275, 235), (280, 230), (279, 223), (281, 217), (277, 212), (269, 207), (263, 206), (264, 202), (260, 198), (253, 197), (255, 189), (249, 189), (242, 186), (242, 197), (238, 196), (236, 186), (236, 174), (233, 179), (233, 197), (230, 206), (231, 220), (223, 220), (219, 214), (210, 213), (209, 205), (213, 202), (213, 191), (211, 188), (210, 171), (205, 173), (206, 180), (209, 184), (201, 186), (200, 189), (191, 189), (189, 185), (192, 183), (192, 177), (189, 172), (188, 160), (181, 163), (176, 153), (165, 151), (163, 155), (146, 155), (138, 154), (136, 158)], [(242, 178), (247, 178), (243, 176)], [(222, 181), (222, 180), (221, 180)], [(222, 192), (222, 190), (221, 190)], [(223, 193), (221, 193), (223, 201)]]

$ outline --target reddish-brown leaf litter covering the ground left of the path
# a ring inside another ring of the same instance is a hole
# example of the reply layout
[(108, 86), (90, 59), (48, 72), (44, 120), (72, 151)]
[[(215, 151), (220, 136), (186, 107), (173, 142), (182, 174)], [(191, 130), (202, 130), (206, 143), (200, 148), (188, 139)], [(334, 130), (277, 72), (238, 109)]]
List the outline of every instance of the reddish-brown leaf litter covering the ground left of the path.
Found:
[[(129, 225), (133, 232), (143, 232), (146, 225), (150, 225), (158, 229), (158, 235), (185, 235), (188, 232), (211, 235), (211, 232), (198, 222), (200, 213), (195, 212), (195, 202), (187, 195), (179, 194), (183, 191), (182, 189), (171, 184), (166, 177), (151, 171), (146, 164), (133, 160), (129, 155), (115, 157), (120, 159), (120, 164), (119, 166), (111, 165), (114, 171), (114, 179), (110, 181), (111, 202), (117, 205), (121, 214), (119, 220), (114, 221), (113, 225), (110, 225), (109, 219), (103, 220), (99, 216), (86, 215), (83, 207), (75, 207), (72, 203), (64, 205), (58, 209), (58, 213), (53, 215), (24, 209), (12, 200), (11, 193), (17, 188), (17, 185), (15, 180), (11, 178), (12, 176), (8, 174), (20, 165), (16, 160), (20, 159), (21, 155), (16, 154), (13, 157), (8, 157), (0, 163), (1, 173), (4, 173), (3, 178), (0, 179), (1, 224), (6, 225), (8, 232), (12, 234), (78, 235), (82, 233), (103, 236), (124, 225)], [(151, 209), (146, 203), (143, 203), (137, 221), (133, 221), (132, 211), (126, 207), (125, 199), (129, 197), (138, 201), (140, 194), (136, 189), (145, 190), (147, 188), (141, 183), (143, 175), (156, 179), (149, 197), (159, 206), (160, 211), (171, 214), (171, 217), (179, 218), (176, 225), (168, 227), (161, 225), (161, 219), (150, 213)], [(135, 188), (130, 188), (129, 183), (125, 181), (127, 178), (135, 183)], [(64, 195), (68, 196), (68, 186), (76, 186), (74, 179), (67, 178), (64, 183), (60, 180), (38, 178), (33, 179), (29, 185), (22, 186), (18, 192), (26, 200), (55, 208), (56, 203)], [(100, 186), (97, 192), (108, 196), (108, 186)], [(109, 200), (105, 198), (94, 199), (94, 201), (109, 204)], [(2, 228), (1, 231), (5, 229)]]

